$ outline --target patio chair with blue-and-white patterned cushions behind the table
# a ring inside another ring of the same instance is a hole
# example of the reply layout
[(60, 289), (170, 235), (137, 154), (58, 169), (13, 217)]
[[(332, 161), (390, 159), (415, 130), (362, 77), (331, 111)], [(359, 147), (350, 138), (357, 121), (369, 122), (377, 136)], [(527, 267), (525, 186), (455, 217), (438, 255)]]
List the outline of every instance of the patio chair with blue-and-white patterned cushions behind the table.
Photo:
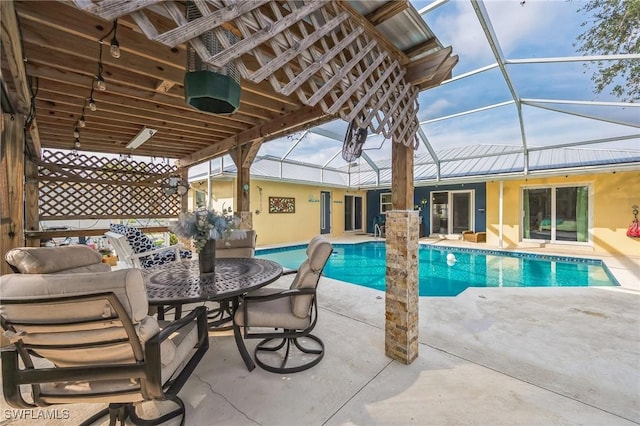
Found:
[[(119, 238), (122, 235), (125, 238)], [(182, 244), (156, 247), (153, 240), (140, 229), (126, 225), (111, 224), (105, 233), (109, 244), (115, 249), (118, 258), (130, 268), (149, 268), (163, 265), (179, 259), (191, 259), (191, 250), (182, 249)]]

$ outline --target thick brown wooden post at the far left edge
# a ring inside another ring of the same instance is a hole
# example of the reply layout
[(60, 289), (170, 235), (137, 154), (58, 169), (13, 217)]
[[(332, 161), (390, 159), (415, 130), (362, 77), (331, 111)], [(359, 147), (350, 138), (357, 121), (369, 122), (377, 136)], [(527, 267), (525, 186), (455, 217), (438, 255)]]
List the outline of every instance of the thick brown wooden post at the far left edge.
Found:
[[(21, 115), (5, 115), (0, 144), (0, 252), (24, 245), (24, 119)], [(6, 262), (0, 262), (0, 272), (11, 273)]]

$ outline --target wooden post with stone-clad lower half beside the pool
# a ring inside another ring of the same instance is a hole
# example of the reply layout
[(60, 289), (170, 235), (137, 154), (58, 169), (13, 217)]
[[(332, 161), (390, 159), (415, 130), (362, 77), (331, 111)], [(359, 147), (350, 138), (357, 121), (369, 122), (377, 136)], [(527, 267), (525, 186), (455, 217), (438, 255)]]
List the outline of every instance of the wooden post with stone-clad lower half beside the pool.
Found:
[(419, 216), (413, 210), (413, 149), (391, 144), (392, 210), (386, 213), (385, 354), (410, 364), (418, 357)]

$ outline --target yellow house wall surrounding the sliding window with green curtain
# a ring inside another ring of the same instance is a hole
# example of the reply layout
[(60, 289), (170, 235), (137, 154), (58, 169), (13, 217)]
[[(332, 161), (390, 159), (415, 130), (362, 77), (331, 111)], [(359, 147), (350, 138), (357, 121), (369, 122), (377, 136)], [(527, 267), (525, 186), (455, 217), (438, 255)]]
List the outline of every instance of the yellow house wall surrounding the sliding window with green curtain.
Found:
[[(633, 220), (632, 205), (640, 205), (640, 172), (557, 176), (541, 179), (504, 181), (503, 248), (526, 247), (523, 242), (522, 188), (545, 185), (590, 185), (592, 228), (588, 243), (553, 243), (547, 247), (582, 247), (585, 251), (611, 254), (640, 254), (640, 239), (629, 238), (626, 231)], [(499, 244), (500, 183), (487, 183), (487, 243)]]

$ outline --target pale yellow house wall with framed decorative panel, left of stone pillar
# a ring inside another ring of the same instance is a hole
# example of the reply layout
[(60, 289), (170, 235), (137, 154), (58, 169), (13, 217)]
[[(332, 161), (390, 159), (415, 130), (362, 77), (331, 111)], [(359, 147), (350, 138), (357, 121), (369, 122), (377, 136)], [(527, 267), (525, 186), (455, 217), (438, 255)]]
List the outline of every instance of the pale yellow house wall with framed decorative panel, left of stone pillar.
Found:
[[(213, 207), (219, 210), (222, 202), (225, 207), (233, 205), (236, 193), (236, 180), (214, 180), (212, 191), (215, 197)], [(331, 233), (339, 237), (344, 235), (344, 196), (359, 195), (363, 200), (363, 215), (366, 212), (364, 191), (342, 188), (327, 188), (320, 185), (263, 181), (252, 179), (250, 184), (250, 206), (253, 216), (253, 229), (258, 235), (257, 244), (271, 245), (309, 241), (320, 233), (320, 192), (331, 193)], [(204, 186), (206, 189), (206, 182)], [(262, 188), (260, 191), (259, 188)], [(269, 213), (269, 197), (289, 197), (295, 199), (294, 213)], [(364, 218), (363, 218), (364, 220)], [(363, 222), (364, 223), (364, 222)]]

